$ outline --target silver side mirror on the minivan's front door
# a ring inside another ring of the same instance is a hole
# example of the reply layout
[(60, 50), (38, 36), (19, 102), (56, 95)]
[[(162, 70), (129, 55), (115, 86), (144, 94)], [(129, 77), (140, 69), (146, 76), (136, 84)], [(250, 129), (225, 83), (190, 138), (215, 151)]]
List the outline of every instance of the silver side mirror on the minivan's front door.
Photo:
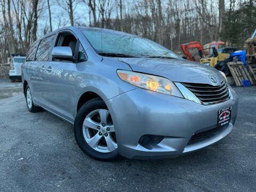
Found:
[(52, 50), (52, 57), (54, 59), (69, 60), (73, 59), (72, 50), (68, 46), (55, 46)]

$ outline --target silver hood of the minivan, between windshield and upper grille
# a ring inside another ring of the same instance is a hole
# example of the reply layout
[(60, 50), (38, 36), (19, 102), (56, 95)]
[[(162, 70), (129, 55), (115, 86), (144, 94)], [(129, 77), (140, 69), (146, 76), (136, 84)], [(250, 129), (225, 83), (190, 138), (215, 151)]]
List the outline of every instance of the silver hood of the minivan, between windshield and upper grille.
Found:
[[(133, 71), (158, 75), (170, 79), (172, 82), (203, 83), (220, 85), (224, 77), (210, 66), (185, 59), (162, 58), (115, 58), (131, 66)], [(218, 83), (211, 81), (209, 75), (214, 75)]]

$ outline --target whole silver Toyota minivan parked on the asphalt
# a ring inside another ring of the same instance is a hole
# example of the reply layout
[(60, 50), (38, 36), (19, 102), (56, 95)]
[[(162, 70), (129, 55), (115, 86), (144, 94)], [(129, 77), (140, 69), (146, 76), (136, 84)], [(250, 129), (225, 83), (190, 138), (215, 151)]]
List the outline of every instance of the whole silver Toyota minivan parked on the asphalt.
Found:
[(78, 146), (109, 160), (177, 157), (225, 137), (238, 99), (220, 71), (119, 31), (66, 27), (31, 45), (28, 110), (74, 124)]

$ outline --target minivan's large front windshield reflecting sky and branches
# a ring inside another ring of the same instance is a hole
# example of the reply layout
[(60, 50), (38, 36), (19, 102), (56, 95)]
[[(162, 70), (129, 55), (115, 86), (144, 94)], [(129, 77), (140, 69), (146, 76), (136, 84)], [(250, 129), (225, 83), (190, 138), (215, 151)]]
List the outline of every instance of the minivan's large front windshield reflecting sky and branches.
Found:
[[(93, 49), (101, 53), (101, 30), (81, 29)], [(102, 30), (102, 52), (131, 55), (134, 57), (180, 57), (165, 47), (146, 38), (121, 32)]]

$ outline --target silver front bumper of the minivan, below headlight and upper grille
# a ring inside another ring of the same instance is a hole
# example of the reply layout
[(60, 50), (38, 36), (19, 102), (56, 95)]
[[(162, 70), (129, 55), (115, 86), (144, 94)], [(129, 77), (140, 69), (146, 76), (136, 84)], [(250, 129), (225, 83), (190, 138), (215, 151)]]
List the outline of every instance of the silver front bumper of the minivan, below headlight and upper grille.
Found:
[[(119, 154), (127, 158), (157, 159), (177, 157), (209, 146), (225, 137), (235, 123), (238, 99), (231, 90), (230, 99), (204, 106), (193, 101), (135, 89), (106, 102), (115, 124)], [(217, 113), (231, 107), (231, 122), (218, 134), (187, 145), (200, 132), (217, 127)], [(139, 144), (143, 135), (159, 135), (164, 139), (151, 148)]]

